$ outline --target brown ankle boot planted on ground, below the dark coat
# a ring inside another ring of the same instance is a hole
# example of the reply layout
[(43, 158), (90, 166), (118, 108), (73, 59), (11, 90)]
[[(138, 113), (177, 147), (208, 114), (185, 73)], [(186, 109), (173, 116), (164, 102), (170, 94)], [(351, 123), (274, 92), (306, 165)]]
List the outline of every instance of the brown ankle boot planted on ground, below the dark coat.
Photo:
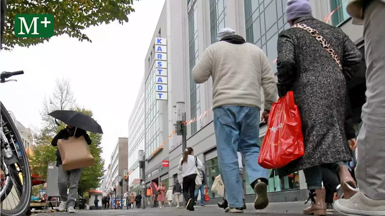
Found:
[[(325, 188), (310, 190), (311, 206), (303, 209), (304, 214), (326, 215)], [(308, 202), (306, 201), (306, 203)], [(305, 204), (306, 204), (305, 203)]]

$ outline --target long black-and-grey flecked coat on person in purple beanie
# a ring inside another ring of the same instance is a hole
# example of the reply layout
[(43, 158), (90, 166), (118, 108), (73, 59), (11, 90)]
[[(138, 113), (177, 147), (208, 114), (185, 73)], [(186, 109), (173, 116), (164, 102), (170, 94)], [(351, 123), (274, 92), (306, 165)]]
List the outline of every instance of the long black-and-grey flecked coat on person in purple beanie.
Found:
[(290, 28), (278, 37), (278, 94), (294, 92), (300, 111), (305, 155), (278, 169), (280, 178), (294, 171), (313, 166), (350, 161), (345, 134), (347, 108), (344, 73), (355, 73), (362, 55), (352, 40), (340, 28), (313, 17), (303, 17), (304, 23), (317, 30), (338, 54), (343, 71), (320, 43), (300, 28)]

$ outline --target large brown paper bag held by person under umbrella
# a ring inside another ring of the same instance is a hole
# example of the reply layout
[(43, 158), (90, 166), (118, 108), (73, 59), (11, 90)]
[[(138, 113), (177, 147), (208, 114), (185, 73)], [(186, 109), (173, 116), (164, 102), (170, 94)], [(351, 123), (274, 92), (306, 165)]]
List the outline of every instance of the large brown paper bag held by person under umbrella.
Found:
[(62, 158), (64, 171), (89, 167), (95, 163), (84, 136), (72, 137), (69, 140), (59, 139), (57, 147)]

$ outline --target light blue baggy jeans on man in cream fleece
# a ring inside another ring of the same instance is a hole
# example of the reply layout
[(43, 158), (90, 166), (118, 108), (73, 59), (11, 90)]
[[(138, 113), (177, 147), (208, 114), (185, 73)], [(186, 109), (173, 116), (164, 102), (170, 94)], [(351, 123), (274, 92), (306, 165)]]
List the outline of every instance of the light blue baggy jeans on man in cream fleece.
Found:
[(258, 164), (259, 109), (247, 106), (214, 108), (214, 130), (218, 166), (231, 208), (243, 207), (242, 181), (239, 178), (237, 151), (241, 152), (249, 182), (268, 179), (268, 170)]

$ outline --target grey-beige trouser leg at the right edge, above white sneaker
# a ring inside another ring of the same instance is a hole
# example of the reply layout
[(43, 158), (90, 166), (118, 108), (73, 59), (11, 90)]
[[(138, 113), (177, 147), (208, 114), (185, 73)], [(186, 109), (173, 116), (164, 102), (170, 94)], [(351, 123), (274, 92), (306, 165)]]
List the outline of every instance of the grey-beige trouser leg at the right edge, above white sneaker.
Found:
[(358, 187), (370, 199), (385, 200), (385, 3), (374, 1), (365, 10), (364, 38), (367, 102), (357, 137), (355, 169)]

